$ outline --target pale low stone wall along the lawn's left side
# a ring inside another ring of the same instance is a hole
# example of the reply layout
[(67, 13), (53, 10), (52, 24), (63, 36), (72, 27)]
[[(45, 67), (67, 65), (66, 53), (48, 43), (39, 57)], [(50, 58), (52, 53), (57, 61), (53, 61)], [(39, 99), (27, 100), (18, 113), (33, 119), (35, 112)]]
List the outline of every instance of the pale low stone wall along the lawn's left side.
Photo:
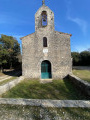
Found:
[(4, 85), (0, 85), (0, 95), (5, 93), (6, 91), (10, 90), (11, 88), (13, 88), (14, 86), (16, 86), (18, 83), (20, 83), (21, 81), (24, 80), (24, 77), (18, 77)]

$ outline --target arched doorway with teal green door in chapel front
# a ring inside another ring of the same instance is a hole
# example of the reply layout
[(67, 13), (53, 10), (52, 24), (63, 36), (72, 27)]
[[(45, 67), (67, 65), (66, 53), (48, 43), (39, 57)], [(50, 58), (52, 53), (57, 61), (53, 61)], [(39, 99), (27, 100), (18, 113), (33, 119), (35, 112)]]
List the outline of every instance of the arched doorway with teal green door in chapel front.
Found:
[(41, 63), (41, 78), (42, 79), (52, 78), (51, 63), (48, 60), (42, 61)]

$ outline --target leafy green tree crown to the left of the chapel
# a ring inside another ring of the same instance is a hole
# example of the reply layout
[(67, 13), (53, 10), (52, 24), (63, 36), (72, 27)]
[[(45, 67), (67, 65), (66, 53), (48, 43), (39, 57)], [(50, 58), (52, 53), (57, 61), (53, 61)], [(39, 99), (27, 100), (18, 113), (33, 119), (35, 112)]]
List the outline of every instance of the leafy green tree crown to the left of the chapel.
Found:
[(20, 45), (18, 41), (7, 35), (1, 35), (0, 38), (0, 67), (12, 67), (20, 54)]

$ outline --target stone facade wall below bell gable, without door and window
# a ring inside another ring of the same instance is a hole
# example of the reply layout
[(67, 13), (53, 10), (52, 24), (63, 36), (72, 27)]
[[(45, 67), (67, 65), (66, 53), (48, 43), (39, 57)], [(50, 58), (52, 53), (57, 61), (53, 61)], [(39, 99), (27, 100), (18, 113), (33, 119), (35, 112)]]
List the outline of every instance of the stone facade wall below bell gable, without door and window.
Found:
[[(48, 47), (43, 47), (43, 37), (47, 37)], [(43, 53), (48, 49), (48, 53)], [(41, 78), (41, 63), (51, 62), (52, 78), (60, 79), (72, 72), (70, 35), (56, 31), (38, 31), (22, 40), (23, 76)]]

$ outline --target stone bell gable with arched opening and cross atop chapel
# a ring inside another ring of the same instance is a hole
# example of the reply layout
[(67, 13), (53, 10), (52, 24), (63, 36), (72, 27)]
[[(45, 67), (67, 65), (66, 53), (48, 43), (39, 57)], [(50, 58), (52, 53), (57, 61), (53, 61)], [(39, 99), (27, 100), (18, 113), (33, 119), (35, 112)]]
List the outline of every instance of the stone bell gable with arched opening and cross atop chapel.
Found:
[(35, 14), (35, 31), (43, 29), (54, 30), (54, 13), (45, 5), (45, 0)]

